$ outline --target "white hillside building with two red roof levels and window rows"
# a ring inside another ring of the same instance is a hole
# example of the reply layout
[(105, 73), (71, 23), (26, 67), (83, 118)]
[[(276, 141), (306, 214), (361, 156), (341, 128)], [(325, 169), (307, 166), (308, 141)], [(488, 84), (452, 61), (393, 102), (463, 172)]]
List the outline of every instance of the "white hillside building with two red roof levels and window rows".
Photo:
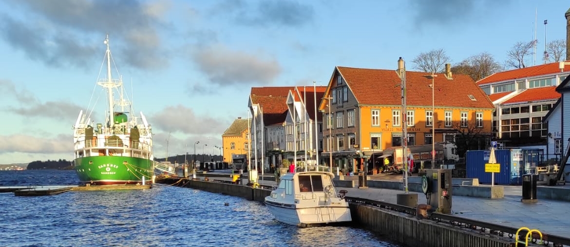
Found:
[(539, 145), (545, 151), (544, 116), (560, 98), (556, 86), (569, 74), (570, 66), (548, 63), (498, 72), (477, 82), (496, 108), (493, 132), (500, 145)]

